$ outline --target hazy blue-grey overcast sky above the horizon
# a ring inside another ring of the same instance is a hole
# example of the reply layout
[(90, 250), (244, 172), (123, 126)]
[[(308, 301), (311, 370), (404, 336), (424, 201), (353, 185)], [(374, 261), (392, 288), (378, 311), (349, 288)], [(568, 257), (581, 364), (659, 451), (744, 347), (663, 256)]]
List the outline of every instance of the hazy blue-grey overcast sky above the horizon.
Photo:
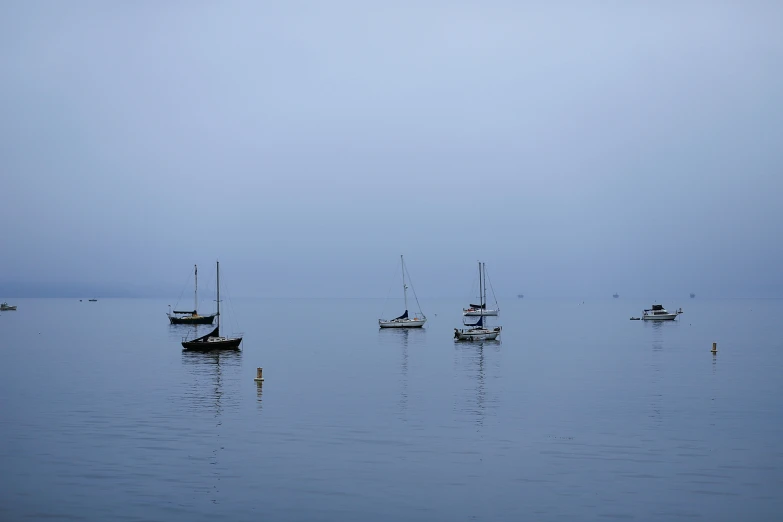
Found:
[(400, 254), (420, 297), (477, 260), (499, 297), (783, 297), (780, 2), (5, 1), (0, 49), (0, 298), (216, 260), (385, 297)]

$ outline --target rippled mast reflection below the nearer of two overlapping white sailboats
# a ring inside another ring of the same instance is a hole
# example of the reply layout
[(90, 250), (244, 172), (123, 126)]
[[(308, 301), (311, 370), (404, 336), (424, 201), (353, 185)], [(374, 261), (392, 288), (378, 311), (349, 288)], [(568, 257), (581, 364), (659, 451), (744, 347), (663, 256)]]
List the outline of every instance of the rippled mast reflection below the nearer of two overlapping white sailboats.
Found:
[(456, 358), (455, 369), (467, 376), (471, 386), (466, 387), (468, 397), (463, 410), (475, 415), (475, 423), (478, 427), (484, 425), (487, 407), (497, 404), (497, 397), (488, 392), (487, 373), (490, 378), (497, 378), (500, 372), (501, 343), (495, 341), (474, 341), (471, 343), (454, 343)]

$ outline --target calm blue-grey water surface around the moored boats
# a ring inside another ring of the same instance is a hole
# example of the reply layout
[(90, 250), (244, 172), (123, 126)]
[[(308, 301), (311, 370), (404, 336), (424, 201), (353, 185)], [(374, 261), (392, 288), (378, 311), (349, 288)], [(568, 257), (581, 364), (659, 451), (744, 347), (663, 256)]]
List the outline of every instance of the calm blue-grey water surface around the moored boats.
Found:
[(781, 300), (506, 300), (484, 344), (461, 301), (234, 300), (221, 355), (168, 301), (14, 302), (0, 520), (783, 518)]

